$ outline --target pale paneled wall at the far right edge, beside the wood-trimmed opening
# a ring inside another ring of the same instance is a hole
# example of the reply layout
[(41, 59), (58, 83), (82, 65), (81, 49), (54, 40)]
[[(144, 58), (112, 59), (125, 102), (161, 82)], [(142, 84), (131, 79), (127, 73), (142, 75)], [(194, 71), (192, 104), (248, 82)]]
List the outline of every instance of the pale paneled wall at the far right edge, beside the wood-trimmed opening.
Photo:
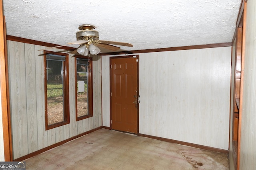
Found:
[[(256, 169), (256, 1), (245, 5), (244, 82), (240, 142), (240, 170)], [(242, 79), (241, 79), (242, 81)], [(239, 118), (240, 119), (240, 118)]]

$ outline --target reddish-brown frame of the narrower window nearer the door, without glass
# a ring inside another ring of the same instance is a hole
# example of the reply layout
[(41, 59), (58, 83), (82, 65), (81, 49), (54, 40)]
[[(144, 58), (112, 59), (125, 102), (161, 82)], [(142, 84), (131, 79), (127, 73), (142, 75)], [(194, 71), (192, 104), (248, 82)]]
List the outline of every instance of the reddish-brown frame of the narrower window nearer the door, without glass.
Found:
[(89, 117), (93, 117), (93, 88), (92, 88), (92, 57), (88, 57), (88, 56), (81, 56), (81, 55), (75, 55), (75, 82), (77, 83), (77, 58), (78, 59), (88, 59), (89, 60), (89, 76), (88, 76), (88, 85), (87, 85), (87, 88), (88, 88), (88, 115), (83, 115), (83, 116), (80, 116), (78, 117), (78, 111), (77, 111), (77, 87), (75, 87), (75, 93), (76, 93), (76, 102), (75, 102), (75, 105), (76, 105), (76, 121), (80, 121), (80, 120), (83, 120), (83, 119), (87, 119)]

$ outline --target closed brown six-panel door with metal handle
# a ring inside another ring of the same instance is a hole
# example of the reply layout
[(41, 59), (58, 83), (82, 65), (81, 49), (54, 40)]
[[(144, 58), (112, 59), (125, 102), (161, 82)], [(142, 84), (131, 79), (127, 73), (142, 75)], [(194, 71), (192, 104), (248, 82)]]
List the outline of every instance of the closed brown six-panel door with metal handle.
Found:
[(110, 58), (112, 129), (138, 133), (138, 56)]

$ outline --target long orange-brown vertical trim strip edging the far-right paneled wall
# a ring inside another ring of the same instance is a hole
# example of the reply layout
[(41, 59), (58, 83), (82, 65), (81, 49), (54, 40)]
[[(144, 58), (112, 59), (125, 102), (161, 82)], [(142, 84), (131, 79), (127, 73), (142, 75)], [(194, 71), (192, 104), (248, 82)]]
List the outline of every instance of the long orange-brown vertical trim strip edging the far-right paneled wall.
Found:
[(245, 32), (246, 32), (246, 6), (244, 2), (243, 12), (243, 32), (242, 32), (242, 57), (241, 57), (241, 82), (240, 82), (240, 100), (239, 100), (239, 119), (238, 119), (238, 141), (237, 141), (237, 170), (240, 169), (240, 142), (241, 142), (241, 123), (243, 115), (243, 88), (244, 88), (244, 54), (245, 54)]

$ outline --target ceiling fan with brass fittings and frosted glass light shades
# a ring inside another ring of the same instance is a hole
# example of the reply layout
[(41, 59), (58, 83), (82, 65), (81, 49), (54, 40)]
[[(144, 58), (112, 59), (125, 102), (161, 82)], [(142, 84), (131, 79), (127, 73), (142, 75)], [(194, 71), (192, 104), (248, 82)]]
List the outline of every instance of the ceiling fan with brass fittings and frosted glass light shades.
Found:
[[(133, 47), (133, 45), (130, 43), (99, 40), (98, 31), (93, 30), (95, 29), (94, 25), (82, 24), (82, 25), (79, 25), (78, 29), (80, 29), (80, 31), (76, 32), (77, 41), (70, 42), (67, 44), (67, 45), (71, 45), (71, 44), (80, 45), (73, 53), (78, 53), (80, 55), (88, 56), (89, 52), (92, 55), (97, 55), (98, 53), (100, 53), (100, 48), (108, 49), (110, 51), (117, 51), (120, 49), (120, 47), (116, 47), (114, 45)], [(63, 47), (63, 46), (66, 46), (66, 45), (59, 45), (56, 47), (50, 47), (46, 49), (52, 49), (52, 48)], [(46, 49), (41, 49), (41, 50), (46, 50)], [(41, 51), (41, 50), (38, 50), (38, 51)]]

